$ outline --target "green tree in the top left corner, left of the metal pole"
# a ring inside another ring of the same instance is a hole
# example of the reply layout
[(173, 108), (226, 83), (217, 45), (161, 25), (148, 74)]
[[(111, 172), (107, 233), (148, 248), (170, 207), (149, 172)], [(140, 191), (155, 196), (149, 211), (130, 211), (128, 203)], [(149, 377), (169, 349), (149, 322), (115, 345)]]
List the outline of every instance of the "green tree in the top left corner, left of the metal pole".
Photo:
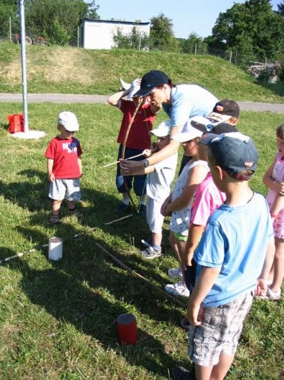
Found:
[(0, 0), (0, 37), (8, 38), (10, 18), (12, 35), (19, 31), (19, 6), (17, 0)]

